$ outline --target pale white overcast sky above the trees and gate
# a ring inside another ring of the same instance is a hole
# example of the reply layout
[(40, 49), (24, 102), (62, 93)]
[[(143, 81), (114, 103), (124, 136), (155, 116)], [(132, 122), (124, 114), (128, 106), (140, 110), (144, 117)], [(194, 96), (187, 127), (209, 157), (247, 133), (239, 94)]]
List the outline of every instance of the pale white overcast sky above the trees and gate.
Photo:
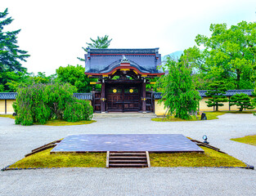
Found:
[(211, 24), (256, 21), (255, 0), (0, 0), (14, 20), (4, 30), (21, 29), (18, 45), (29, 52), (28, 72), (56, 73), (60, 66), (84, 65), (82, 47), (109, 35), (110, 48), (155, 48), (162, 56), (195, 46)]

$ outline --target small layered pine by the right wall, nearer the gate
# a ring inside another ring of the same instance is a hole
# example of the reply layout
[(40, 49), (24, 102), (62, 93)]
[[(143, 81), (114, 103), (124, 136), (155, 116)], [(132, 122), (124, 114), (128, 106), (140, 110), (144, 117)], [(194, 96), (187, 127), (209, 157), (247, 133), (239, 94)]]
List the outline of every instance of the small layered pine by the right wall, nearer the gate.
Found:
[(227, 87), (224, 85), (223, 81), (217, 81), (209, 84), (209, 90), (205, 93), (206, 96), (212, 97), (209, 98), (209, 101), (205, 101), (208, 107), (216, 107), (218, 111), (219, 106), (223, 106), (222, 102), (227, 102), (228, 99), (225, 95)]

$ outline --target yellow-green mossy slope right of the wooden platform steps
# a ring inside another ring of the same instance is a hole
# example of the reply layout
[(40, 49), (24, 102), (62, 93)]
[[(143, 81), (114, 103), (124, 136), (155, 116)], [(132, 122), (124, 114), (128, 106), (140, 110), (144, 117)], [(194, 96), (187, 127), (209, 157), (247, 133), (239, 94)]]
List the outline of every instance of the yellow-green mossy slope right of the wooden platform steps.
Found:
[(204, 154), (150, 154), (151, 167), (246, 167), (245, 163), (228, 154), (201, 148)]

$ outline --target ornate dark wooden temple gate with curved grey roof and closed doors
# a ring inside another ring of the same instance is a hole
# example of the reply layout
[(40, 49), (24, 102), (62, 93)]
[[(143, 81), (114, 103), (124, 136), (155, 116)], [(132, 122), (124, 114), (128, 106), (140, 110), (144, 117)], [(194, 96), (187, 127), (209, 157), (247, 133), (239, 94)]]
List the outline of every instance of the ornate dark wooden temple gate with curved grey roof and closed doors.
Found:
[(90, 49), (85, 74), (98, 78), (101, 91), (92, 91), (94, 112), (154, 112), (154, 93), (146, 91), (149, 78), (164, 75), (159, 48)]

